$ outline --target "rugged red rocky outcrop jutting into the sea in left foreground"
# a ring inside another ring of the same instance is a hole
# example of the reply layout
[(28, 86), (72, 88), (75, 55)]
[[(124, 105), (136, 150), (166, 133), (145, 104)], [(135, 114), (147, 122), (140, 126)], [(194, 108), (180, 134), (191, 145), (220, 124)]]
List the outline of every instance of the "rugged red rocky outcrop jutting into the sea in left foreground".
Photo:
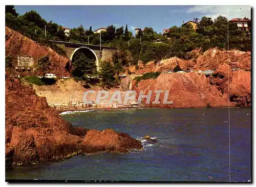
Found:
[(45, 97), (17, 79), (6, 80), (6, 163), (27, 166), (82, 153), (128, 152), (140, 141), (112, 129), (73, 127), (62, 120)]

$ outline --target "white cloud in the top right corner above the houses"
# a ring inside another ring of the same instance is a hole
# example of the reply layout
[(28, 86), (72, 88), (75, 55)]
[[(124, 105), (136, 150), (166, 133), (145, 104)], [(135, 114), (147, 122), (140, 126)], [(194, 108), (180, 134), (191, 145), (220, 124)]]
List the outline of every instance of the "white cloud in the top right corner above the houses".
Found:
[(215, 19), (219, 15), (225, 16), (228, 19), (232, 18), (251, 18), (251, 7), (243, 5), (220, 5), (220, 6), (194, 6), (187, 8), (186, 13), (197, 13), (199, 18), (208, 16)]

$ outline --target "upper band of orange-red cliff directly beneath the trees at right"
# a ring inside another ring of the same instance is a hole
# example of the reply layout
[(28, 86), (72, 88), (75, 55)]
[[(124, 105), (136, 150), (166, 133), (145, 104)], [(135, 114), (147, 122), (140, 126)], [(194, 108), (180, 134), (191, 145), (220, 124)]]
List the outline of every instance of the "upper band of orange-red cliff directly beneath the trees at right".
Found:
[(177, 65), (180, 66), (181, 70), (215, 70), (222, 63), (229, 64), (232, 68), (240, 68), (243, 70), (251, 69), (251, 54), (250, 52), (243, 52), (239, 50), (219, 50), (217, 48), (212, 48), (204, 53), (200, 50), (193, 50), (187, 53), (189, 60), (179, 59), (173, 57), (170, 59), (164, 59), (158, 64), (153, 62), (143, 65), (139, 64), (139, 68), (136, 69), (135, 66), (130, 68), (131, 72), (136, 74), (143, 74), (145, 72), (156, 72), (156, 71), (169, 71), (173, 70)]

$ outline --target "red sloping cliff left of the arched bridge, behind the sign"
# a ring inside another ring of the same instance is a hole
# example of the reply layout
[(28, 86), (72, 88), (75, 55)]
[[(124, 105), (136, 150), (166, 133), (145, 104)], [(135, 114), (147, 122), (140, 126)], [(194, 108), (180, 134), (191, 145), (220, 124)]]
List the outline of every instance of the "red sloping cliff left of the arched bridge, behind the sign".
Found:
[[(8, 28), (5, 26), (6, 33), (6, 42), (5, 42), (5, 54), (13, 57), (14, 66), (17, 65), (17, 57), (18, 56), (29, 56), (34, 58), (34, 65), (37, 64), (39, 58), (49, 55), (51, 66), (49, 69), (49, 73), (54, 73), (56, 76), (70, 76), (70, 73), (66, 70), (67, 67), (71, 67), (71, 61), (63, 56), (57, 54), (56, 51), (51, 49), (50, 47), (41, 45), (28, 37)], [(68, 64), (68, 65), (67, 65)], [(14, 68), (13, 68), (14, 69)], [(27, 75), (32, 74), (28, 71), (25, 72), (15, 72), (13, 70), (13, 74), (21, 74)], [(36, 69), (34, 71), (35, 75), (42, 75), (42, 71)]]

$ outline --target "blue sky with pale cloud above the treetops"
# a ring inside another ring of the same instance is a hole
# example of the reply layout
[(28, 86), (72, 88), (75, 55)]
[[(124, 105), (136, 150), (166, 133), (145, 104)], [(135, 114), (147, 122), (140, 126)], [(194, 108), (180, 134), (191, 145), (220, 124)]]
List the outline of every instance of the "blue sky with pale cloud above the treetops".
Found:
[(183, 21), (219, 15), (232, 18), (251, 18), (250, 6), (15, 6), (16, 12), (24, 14), (35, 10), (46, 21), (53, 21), (67, 28), (96, 30), (113, 24), (117, 28), (127, 24), (128, 30), (135, 34), (134, 28), (152, 27), (163, 33), (163, 29), (180, 26)]

